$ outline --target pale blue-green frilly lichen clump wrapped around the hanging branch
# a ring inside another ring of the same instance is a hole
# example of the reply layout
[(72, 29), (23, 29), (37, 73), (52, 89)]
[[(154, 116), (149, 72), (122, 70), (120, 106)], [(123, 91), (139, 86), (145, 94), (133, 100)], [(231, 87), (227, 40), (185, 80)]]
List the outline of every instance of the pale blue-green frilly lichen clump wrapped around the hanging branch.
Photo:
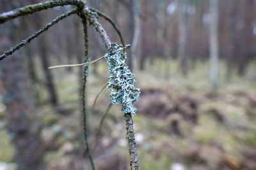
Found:
[[(111, 103), (122, 105), (124, 113), (131, 113), (134, 116), (137, 109), (133, 106), (133, 103), (140, 99), (140, 89), (134, 87), (136, 83), (135, 75), (125, 64), (127, 54), (125, 53), (122, 57), (124, 52), (124, 50), (120, 50), (122, 48), (124, 48), (122, 45), (113, 44), (109, 53), (104, 55), (109, 69), (109, 97)], [(115, 52), (116, 50), (120, 51)], [(113, 52), (115, 53), (113, 54)]]

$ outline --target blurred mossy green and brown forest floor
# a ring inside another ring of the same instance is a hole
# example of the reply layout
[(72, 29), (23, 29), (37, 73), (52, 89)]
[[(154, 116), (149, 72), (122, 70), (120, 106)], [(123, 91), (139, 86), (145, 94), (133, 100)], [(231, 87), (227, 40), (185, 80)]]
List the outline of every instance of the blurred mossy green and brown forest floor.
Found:
[[(141, 169), (163, 170), (173, 165), (195, 170), (256, 169), (255, 63), (245, 76), (231, 74), (228, 82), (221, 65), (218, 90), (211, 89), (207, 63), (193, 67), (183, 77), (177, 72), (176, 62), (155, 60), (154, 66), (148, 63), (145, 71), (134, 72), (136, 87), (141, 90), (141, 100), (135, 103), (138, 112), (133, 117)], [(108, 89), (100, 94), (95, 108), (92, 105), (108, 81), (107, 70), (106, 63), (99, 62), (98, 74), (88, 76), (89, 142), (97, 169), (125, 170), (128, 151), (120, 106), (111, 107), (96, 135), (110, 103)], [(56, 69), (53, 73), (60, 105), (51, 108), (45, 104), (47, 93), (40, 90), (37, 110), (44, 125), (42, 139), (50, 146), (45, 164), (52, 170), (82, 169), (89, 164), (84, 159), (77, 69)], [(0, 169), (5, 164), (13, 166), (13, 146), (3, 116), (4, 106), (0, 104)]]

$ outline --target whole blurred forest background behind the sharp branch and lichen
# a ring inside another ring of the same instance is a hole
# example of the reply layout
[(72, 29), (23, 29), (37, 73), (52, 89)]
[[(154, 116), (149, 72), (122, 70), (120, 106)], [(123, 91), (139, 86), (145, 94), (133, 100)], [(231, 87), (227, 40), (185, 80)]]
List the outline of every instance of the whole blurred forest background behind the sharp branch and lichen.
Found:
[[(0, 0), (0, 13), (38, 2)], [(256, 1), (88, 3), (113, 18), (131, 44), (127, 64), (141, 89), (133, 117), (140, 169), (256, 169)], [(70, 9), (0, 25), (1, 54)], [(100, 21), (120, 43), (113, 27)], [(93, 27), (89, 46), (92, 60), (106, 53)], [(82, 63), (83, 48), (83, 25), (71, 15), (0, 61), (1, 170), (17, 169), (17, 161), (38, 169), (90, 169), (79, 104), (81, 68), (47, 69)], [(110, 103), (105, 89), (92, 108), (108, 81), (106, 61), (89, 70), (88, 138), (96, 167), (128, 169), (120, 106), (105, 114)]]

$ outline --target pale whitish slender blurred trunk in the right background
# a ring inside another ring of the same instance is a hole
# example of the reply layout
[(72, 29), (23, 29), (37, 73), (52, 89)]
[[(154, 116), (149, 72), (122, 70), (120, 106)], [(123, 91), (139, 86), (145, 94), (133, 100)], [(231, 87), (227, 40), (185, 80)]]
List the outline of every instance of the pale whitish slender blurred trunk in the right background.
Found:
[(211, 22), (209, 25), (210, 81), (212, 88), (218, 87), (218, 0), (210, 1)]

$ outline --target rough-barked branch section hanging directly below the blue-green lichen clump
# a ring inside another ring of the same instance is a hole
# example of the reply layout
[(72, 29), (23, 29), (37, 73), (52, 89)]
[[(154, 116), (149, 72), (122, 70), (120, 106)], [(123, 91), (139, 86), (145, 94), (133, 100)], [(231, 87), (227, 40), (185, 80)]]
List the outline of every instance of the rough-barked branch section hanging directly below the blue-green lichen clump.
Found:
[(136, 141), (134, 137), (134, 130), (133, 130), (133, 122), (132, 116), (129, 113), (124, 114), (125, 117), (125, 128), (127, 130), (126, 136), (128, 140), (128, 150), (130, 154), (130, 167), (131, 170), (138, 170), (138, 158), (137, 158), (137, 149), (136, 149)]

